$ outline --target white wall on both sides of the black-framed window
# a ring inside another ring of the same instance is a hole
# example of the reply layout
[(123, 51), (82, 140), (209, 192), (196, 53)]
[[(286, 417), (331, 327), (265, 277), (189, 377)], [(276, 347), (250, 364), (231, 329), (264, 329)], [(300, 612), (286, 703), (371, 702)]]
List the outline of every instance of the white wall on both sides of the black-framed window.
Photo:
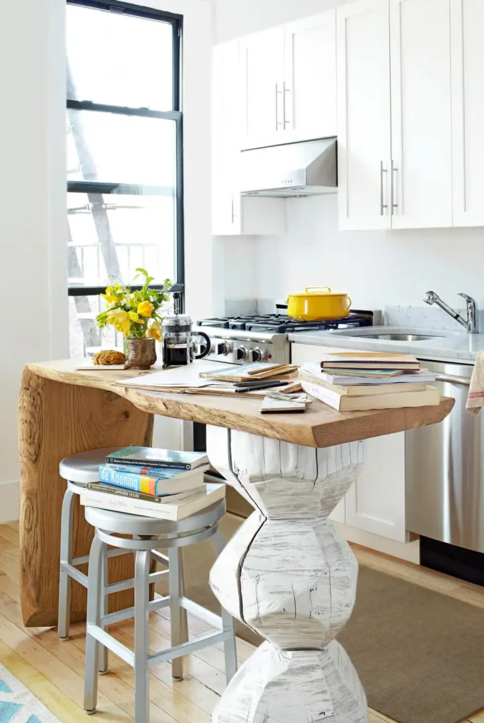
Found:
[[(184, 14), (187, 310), (213, 312), (211, 5), (143, 0)], [(2, 5), (0, 22), (0, 523), (17, 518), (17, 403), (28, 361), (68, 356), (64, 0)]]

